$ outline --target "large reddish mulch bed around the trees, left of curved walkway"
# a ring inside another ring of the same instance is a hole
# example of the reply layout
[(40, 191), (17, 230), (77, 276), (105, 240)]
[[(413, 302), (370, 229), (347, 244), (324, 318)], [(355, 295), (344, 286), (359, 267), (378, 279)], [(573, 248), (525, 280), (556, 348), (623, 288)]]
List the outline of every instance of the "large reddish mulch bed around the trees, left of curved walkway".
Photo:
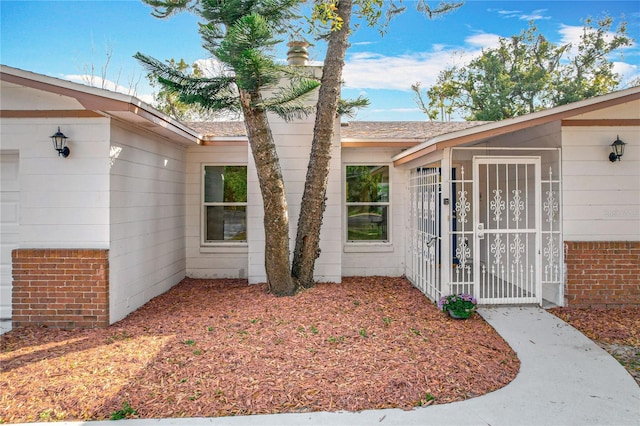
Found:
[(411, 409), (520, 367), (479, 315), (450, 319), (403, 278), (265, 290), (185, 279), (106, 329), (5, 334), (0, 423)]

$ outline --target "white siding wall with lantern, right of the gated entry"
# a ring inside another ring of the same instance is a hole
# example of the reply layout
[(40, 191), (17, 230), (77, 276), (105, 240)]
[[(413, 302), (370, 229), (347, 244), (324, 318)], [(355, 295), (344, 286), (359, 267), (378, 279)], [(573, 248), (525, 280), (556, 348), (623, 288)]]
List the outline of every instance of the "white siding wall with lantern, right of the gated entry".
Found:
[[(627, 145), (612, 163), (617, 135)], [(640, 240), (640, 127), (564, 127), (562, 160), (564, 240)]]

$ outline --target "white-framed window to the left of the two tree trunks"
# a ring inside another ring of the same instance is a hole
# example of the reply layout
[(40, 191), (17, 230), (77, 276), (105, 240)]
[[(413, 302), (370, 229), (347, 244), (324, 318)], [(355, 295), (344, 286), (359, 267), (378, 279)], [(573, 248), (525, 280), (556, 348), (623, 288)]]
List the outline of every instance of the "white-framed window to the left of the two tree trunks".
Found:
[(247, 166), (203, 167), (204, 244), (247, 241)]

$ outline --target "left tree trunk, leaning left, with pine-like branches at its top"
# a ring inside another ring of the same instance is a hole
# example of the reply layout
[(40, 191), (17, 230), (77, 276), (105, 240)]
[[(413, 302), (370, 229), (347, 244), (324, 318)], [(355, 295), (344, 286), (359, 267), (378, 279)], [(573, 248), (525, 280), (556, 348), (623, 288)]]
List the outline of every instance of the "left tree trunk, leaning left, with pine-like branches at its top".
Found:
[(291, 296), (297, 286), (289, 269), (289, 213), (276, 145), (266, 112), (254, 107), (262, 101), (260, 93), (242, 89), (239, 92), (264, 205), (264, 261), (268, 288), (277, 296)]

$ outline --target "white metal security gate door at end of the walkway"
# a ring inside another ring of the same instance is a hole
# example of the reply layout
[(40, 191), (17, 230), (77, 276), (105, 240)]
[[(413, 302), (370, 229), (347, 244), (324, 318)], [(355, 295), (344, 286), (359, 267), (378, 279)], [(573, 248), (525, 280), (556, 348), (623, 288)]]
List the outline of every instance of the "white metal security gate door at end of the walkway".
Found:
[(473, 167), (473, 293), (540, 304), (540, 158), (474, 157)]

